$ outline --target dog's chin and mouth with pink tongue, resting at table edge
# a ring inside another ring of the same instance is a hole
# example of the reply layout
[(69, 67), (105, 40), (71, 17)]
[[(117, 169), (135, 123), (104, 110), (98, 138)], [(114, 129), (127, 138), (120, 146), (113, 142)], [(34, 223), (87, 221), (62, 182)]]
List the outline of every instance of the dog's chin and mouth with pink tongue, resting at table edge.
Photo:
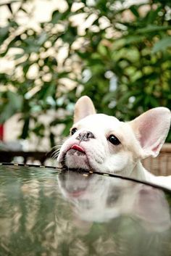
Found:
[(89, 170), (91, 167), (88, 162), (86, 152), (69, 149), (64, 155), (63, 165), (71, 169)]

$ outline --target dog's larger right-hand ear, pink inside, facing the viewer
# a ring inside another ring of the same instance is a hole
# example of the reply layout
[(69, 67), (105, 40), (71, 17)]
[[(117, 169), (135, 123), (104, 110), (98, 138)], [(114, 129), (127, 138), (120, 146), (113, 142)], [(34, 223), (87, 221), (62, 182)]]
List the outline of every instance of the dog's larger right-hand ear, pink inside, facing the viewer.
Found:
[(170, 119), (169, 109), (156, 107), (130, 122), (143, 149), (142, 158), (157, 157), (170, 130)]

